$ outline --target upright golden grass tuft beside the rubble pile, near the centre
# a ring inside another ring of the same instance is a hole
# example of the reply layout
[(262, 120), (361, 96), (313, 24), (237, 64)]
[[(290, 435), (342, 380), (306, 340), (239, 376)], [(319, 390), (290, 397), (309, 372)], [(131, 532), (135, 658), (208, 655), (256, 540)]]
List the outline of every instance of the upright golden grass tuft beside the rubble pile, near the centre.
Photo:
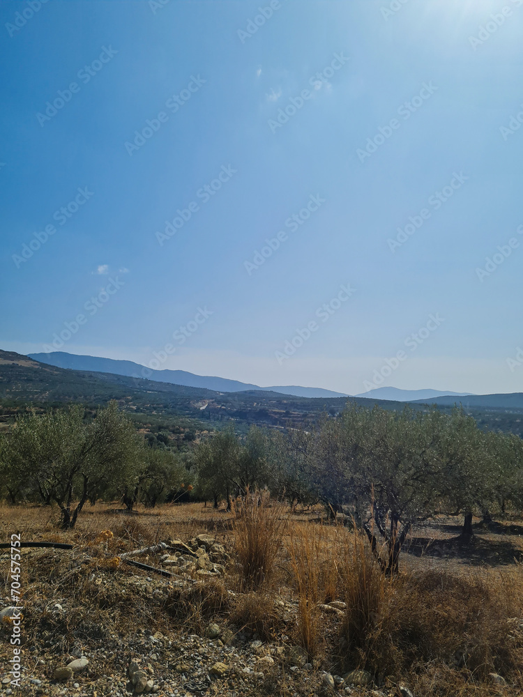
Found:
[(278, 557), (289, 514), (271, 501), (268, 491), (247, 491), (234, 504), (232, 529), (241, 567), (241, 590), (257, 590), (268, 579)]

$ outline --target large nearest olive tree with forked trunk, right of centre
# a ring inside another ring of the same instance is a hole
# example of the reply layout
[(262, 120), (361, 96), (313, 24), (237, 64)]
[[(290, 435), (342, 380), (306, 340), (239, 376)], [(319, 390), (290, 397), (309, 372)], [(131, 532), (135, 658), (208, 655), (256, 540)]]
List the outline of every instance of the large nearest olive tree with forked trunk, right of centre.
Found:
[(437, 444), (445, 418), (435, 410), (397, 413), (349, 404), (314, 431), (308, 464), (314, 489), (332, 516), (354, 516), (388, 573), (397, 571), (411, 527), (437, 505)]

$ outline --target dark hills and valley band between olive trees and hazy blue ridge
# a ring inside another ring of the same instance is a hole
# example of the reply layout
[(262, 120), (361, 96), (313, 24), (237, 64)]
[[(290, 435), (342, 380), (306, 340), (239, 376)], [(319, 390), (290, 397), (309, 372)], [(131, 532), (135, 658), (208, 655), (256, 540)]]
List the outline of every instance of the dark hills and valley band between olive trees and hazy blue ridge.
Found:
[[(48, 354), (44, 355), (45, 358), (48, 357)], [(67, 355), (63, 354), (65, 357)], [(118, 363), (118, 361), (114, 362)], [(111, 365), (107, 367), (114, 369)], [(173, 373), (177, 372), (173, 371)], [(197, 378), (199, 381), (207, 379), (203, 376), (192, 376), (192, 378)], [(220, 380), (220, 378), (209, 379)], [(234, 381), (230, 382), (234, 383)], [(245, 387), (245, 383), (239, 384)], [(8, 420), (13, 415), (26, 411), (29, 404), (35, 408), (41, 408), (43, 404), (59, 406), (68, 402), (79, 402), (86, 404), (89, 408), (96, 408), (98, 405), (107, 404), (112, 399), (116, 399), (121, 408), (128, 413), (135, 413), (138, 423), (148, 423), (151, 419), (158, 423), (164, 423), (162, 420), (165, 419), (188, 419), (196, 429), (205, 430), (215, 427), (215, 424), (225, 424), (232, 420), (239, 429), (244, 431), (250, 424), (278, 428), (289, 427), (290, 424), (291, 427), (297, 428), (308, 426), (322, 414), (340, 413), (347, 402), (354, 402), (365, 408), (372, 408), (376, 404), (384, 409), (401, 411), (406, 404), (402, 400), (408, 396), (404, 392), (404, 390), (398, 390), (391, 393), (377, 389), (367, 392), (367, 397), (310, 398), (260, 389), (242, 389), (238, 392), (213, 391), (206, 387), (159, 382), (135, 377), (132, 374), (128, 376), (96, 370), (62, 368), (50, 363), (38, 362), (34, 355), (29, 357), (0, 349), (0, 404), (3, 407), (0, 431), (6, 428)], [(397, 401), (390, 399), (394, 394), (398, 397)], [(420, 392), (416, 390), (410, 394), (419, 397)], [(425, 411), (427, 404), (435, 404), (441, 411), (448, 413), (454, 404), (462, 404), (467, 413), (471, 413), (476, 418), (480, 427), (508, 431), (523, 437), (523, 393), (521, 392), (508, 395), (444, 395), (441, 397), (431, 397), (434, 391), (422, 391), (421, 394), (425, 397), (410, 402), (415, 411)], [(389, 399), (379, 399), (380, 395)]]

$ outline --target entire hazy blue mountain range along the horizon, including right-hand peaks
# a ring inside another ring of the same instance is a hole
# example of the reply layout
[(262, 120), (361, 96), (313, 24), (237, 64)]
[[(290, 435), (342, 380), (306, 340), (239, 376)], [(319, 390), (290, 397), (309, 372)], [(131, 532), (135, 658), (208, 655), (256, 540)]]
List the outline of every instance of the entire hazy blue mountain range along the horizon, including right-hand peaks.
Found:
[[(246, 390), (259, 390), (263, 392), (280, 392), (282, 395), (294, 397), (348, 397), (346, 392), (333, 392), (323, 388), (305, 388), (299, 385), (279, 385), (262, 388), (251, 383), (242, 383), (238, 380), (220, 378), (216, 376), (195, 375), (185, 370), (152, 370), (131, 360), (114, 360), (112, 358), (100, 358), (91, 355), (76, 355), (65, 351), (52, 353), (30, 353), (30, 358), (48, 365), (73, 370), (87, 370), (90, 372), (112, 373), (128, 377), (147, 378), (156, 382), (173, 383), (185, 387), (204, 388), (216, 392), (245, 392)], [(391, 401), (431, 401), (439, 397), (448, 397), (450, 403), (454, 403), (454, 397), (466, 397), (467, 392), (442, 392), (441, 390), (400, 390), (399, 388), (376, 388), (371, 392), (363, 392), (354, 397), (370, 399), (386, 399)], [(445, 404), (448, 404), (446, 402)]]

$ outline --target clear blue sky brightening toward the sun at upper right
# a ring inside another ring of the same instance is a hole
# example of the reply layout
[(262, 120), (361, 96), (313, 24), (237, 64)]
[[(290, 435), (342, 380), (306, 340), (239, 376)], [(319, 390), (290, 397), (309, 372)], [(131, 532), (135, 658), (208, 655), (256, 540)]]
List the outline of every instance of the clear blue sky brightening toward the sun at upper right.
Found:
[(523, 2), (32, 7), (0, 5), (2, 348), (523, 390)]

